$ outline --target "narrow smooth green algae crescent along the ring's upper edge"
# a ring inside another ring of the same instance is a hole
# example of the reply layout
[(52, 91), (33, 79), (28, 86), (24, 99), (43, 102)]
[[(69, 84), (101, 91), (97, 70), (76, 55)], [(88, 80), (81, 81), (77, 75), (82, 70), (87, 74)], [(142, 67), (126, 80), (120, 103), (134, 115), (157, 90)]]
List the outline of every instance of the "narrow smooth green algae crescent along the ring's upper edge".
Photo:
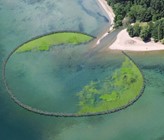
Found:
[(78, 32), (57, 32), (41, 36), (21, 45), (16, 52), (27, 51), (48, 51), (50, 47), (60, 44), (73, 44), (89, 42), (93, 39), (92, 36)]

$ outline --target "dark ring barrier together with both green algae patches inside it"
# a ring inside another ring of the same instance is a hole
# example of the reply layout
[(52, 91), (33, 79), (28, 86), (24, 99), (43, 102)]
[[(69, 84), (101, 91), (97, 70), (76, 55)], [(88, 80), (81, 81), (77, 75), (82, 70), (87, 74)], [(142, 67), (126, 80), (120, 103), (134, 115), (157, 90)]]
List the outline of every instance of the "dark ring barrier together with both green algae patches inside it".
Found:
[(56, 45), (84, 44), (92, 41), (94, 38), (95, 37), (91, 35), (79, 32), (55, 32), (33, 38), (17, 47), (9, 54), (3, 65), (3, 81), (10, 97), (15, 103), (26, 110), (42, 115), (57, 117), (80, 117), (109, 114), (132, 105), (139, 99), (144, 91), (144, 78), (138, 66), (125, 52), (123, 52), (125, 60), (122, 62), (120, 68), (114, 70), (111, 75), (97, 80), (90, 80), (88, 84), (85, 84), (73, 95), (74, 98), (77, 99), (77, 110), (73, 113), (58, 113), (33, 107), (21, 101), (9, 88), (6, 79), (6, 66), (13, 54), (49, 51), (50, 47)]

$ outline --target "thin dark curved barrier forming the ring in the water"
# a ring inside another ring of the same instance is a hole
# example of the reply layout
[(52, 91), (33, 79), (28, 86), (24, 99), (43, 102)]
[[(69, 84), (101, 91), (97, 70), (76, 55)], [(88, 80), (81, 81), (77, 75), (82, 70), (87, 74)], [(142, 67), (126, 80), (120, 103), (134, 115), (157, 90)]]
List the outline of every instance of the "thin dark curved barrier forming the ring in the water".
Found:
[[(55, 32), (53, 32), (55, 33)], [(59, 33), (59, 32), (56, 32), (56, 33)], [(78, 32), (79, 33), (79, 32)], [(52, 33), (50, 33), (52, 34)], [(85, 33), (82, 33), (82, 34), (85, 34)], [(47, 34), (46, 34), (47, 35)], [(43, 36), (43, 35), (42, 35)], [(40, 36), (40, 37), (42, 37)], [(36, 38), (39, 38), (39, 37), (36, 37)], [(36, 39), (36, 38), (33, 38), (33, 39)], [(33, 40), (32, 39), (32, 40)], [(29, 41), (27, 41), (29, 42)], [(25, 43), (27, 43), (25, 42)], [(25, 44), (23, 43), (23, 44)], [(17, 99), (17, 97), (14, 96), (13, 92), (10, 90), (9, 86), (8, 86), (8, 83), (7, 83), (7, 80), (6, 80), (6, 65), (7, 65), (7, 62), (9, 61), (10, 57), (13, 55), (13, 53), (19, 48), (21, 47), (23, 44), (21, 44), (20, 46), (18, 46), (17, 48), (15, 48), (12, 52), (10, 52), (10, 54), (8, 55), (8, 57), (6, 58), (6, 60), (4, 61), (3, 63), (3, 66), (2, 66), (2, 78), (3, 78), (3, 83), (6, 87), (6, 90), (10, 96), (10, 98), (17, 104), (19, 105), (20, 107), (30, 111), (30, 112), (33, 112), (33, 113), (36, 113), (36, 114), (40, 114), (40, 115), (45, 115), (45, 116), (55, 116), (55, 117), (85, 117), (85, 116), (98, 116), (98, 115), (105, 115), (105, 114), (111, 114), (111, 113), (114, 113), (114, 112), (118, 112), (118, 111), (121, 111), (121, 110), (124, 110), (126, 109), (127, 107), (133, 105), (144, 93), (144, 89), (145, 89), (145, 78), (144, 78), (144, 75), (142, 73), (142, 71), (140, 70), (139, 66), (135, 63), (135, 61), (128, 55), (126, 54), (124, 51), (122, 51), (122, 53), (128, 57), (136, 66), (137, 68), (139, 69), (140, 73), (142, 74), (142, 77), (143, 77), (143, 86), (142, 86), (142, 89), (140, 90), (140, 93), (138, 94), (138, 96), (136, 96), (136, 98), (132, 101), (129, 101), (128, 104), (124, 105), (124, 106), (121, 106), (119, 108), (116, 108), (116, 109), (113, 109), (113, 110), (107, 110), (107, 111), (103, 111), (103, 112), (96, 112), (96, 113), (85, 113), (85, 114), (75, 114), (75, 113), (58, 113), (58, 112), (48, 112), (48, 111), (43, 111), (43, 110), (39, 110), (39, 109), (36, 109), (36, 108), (33, 108), (31, 106), (28, 106), (24, 103), (22, 103), (21, 101), (19, 101)]]

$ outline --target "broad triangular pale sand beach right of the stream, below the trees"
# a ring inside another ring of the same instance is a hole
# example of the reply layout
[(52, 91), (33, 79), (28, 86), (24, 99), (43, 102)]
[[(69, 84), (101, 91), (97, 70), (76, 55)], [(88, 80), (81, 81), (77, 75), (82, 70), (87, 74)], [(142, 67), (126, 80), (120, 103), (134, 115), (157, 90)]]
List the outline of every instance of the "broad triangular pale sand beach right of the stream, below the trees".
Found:
[(145, 43), (139, 37), (132, 38), (126, 29), (124, 29), (118, 34), (116, 41), (109, 48), (128, 51), (155, 51), (164, 50), (164, 45), (153, 41)]

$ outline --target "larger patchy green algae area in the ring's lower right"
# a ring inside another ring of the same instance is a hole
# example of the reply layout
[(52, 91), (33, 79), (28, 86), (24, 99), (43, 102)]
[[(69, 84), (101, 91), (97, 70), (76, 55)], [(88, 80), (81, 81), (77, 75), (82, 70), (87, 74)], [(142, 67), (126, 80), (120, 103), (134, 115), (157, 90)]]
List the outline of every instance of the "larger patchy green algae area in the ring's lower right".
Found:
[(112, 76), (91, 81), (77, 93), (78, 114), (117, 110), (136, 100), (142, 91), (144, 79), (138, 67), (126, 57)]

